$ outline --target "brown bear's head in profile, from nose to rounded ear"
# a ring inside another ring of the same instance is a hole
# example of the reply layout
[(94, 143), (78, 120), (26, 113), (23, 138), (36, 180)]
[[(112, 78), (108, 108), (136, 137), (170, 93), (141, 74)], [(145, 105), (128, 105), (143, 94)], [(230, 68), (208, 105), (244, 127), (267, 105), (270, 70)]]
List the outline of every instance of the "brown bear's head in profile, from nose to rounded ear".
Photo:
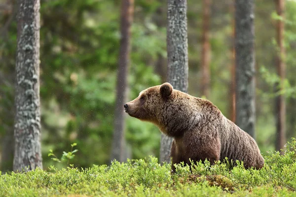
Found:
[(140, 92), (137, 98), (124, 104), (124, 110), (131, 117), (158, 124), (157, 117), (172, 92), (170, 83), (149, 87)]

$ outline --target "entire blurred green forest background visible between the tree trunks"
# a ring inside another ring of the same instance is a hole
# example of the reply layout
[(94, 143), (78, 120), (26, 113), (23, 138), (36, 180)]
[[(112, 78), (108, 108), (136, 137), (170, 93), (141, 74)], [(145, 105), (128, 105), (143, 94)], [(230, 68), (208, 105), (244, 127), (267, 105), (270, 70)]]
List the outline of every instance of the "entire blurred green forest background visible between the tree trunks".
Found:
[[(234, 5), (212, 0), (210, 94), (232, 117)], [(14, 0), (0, 0), (0, 154), (3, 172), (12, 170), (14, 75), (17, 28)], [(191, 95), (201, 95), (202, 1), (188, 0), (188, 61)], [(119, 0), (41, 0), (40, 97), (43, 167), (77, 143), (74, 165), (108, 163), (111, 154), (119, 52)], [(285, 48), (287, 139), (296, 136), (296, 1), (286, 0)], [(256, 141), (263, 154), (275, 148), (276, 5), (255, 1)], [(128, 100), (166, 81), (166, 1), (136, 0), (131, 30)], [(159, 157), (160, 132), (151, 123), (126, 118), (130, 158)]]

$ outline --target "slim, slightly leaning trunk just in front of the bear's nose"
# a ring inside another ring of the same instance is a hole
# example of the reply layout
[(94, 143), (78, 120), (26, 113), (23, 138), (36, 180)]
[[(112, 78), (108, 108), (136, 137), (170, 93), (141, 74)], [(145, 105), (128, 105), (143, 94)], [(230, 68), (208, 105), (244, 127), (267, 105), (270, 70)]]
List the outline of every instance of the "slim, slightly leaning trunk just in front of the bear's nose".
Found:
[(116, 85), (116, 103), (114, 118), (114, 133), (112, 141), (111, 160), (126, 160), (125, 156), (125, 113), (123, 105), (127, 95), (127, 72), (130, 61), (130, 30), (134, 14), (134, 0), (121, 0), (120, 13), (120, 49), (118, 58), (118, 74)]

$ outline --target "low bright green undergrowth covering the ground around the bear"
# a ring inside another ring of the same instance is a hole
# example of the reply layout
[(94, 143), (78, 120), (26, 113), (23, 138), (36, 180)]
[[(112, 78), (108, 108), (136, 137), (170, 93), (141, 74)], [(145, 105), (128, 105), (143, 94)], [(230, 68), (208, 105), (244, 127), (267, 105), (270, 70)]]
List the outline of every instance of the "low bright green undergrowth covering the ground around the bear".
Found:
[(227, 163), (197, 162), (191, 169), (170, 165), (157, 158), (113, 161), (110, 166), (79, 169), (73, 165), (58, 170), (36, 169), (0, 176), (0, 196), (296, 196), (296, 139), (287, 144), (284, 155), (270, 153), (262, 169), (230, 169)]

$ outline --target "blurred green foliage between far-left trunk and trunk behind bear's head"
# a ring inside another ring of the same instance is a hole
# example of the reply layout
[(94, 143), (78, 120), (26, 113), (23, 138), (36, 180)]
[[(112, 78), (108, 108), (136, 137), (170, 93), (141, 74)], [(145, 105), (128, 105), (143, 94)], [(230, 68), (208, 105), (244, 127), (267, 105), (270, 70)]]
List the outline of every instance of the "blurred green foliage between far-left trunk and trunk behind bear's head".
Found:
[[(165, 31), (155, 26), (149, 15), (158, 6), (157, 1), (136, 2), (136, 8), (144, 9), (148, 15), (135, 19), (132, 25), (130, 98), (142, 88), (160, 82), (150, 66), (157, 60), (157, 54), (165, 55)], [(49, 149), (62, 152), (76, 141), (79, 152), (73, 159), (75, 166), (107, 163), (116, 99), (120, 3), (43, 1), (40, 12), (43, 154)], [(159, 145), (151, 136), (159, 139), (159, 131), (150, 124), (139, 125), (136, 119), (127, 123), (127, 146), (132, 157), (157, 155)], [(135, 133), (141, 134), (141, 139), (135, 138)], [(89, 157), (90, 150), (95, 157)], [(53, 161), (45, 157), (45, 168), (51, 164)]]

